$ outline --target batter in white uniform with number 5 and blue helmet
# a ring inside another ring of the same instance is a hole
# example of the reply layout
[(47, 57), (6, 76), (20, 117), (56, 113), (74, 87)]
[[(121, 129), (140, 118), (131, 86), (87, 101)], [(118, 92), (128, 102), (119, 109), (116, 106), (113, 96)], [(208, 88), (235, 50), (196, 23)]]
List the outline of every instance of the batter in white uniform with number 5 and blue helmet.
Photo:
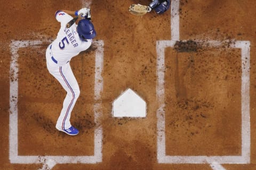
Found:
[[(67, 28), (66, 24), (73, 19), (71, 15), (82, 17), (78, 19), (78, 24), (74, 23)], [(90, 16), (89, 8), (82, 8), (78, 11), (60, 10), (55, 12), (55, 18), (60, 22), (60, 30), (57, 38), (46, 49), (47, 69), (67, 91), (55, 127), (69, 135), (76, 135), (79, 132), (71, 125), (70, 115), (80, 94), (69, 62), (71, 58), (89, 48), (96, 36)]]

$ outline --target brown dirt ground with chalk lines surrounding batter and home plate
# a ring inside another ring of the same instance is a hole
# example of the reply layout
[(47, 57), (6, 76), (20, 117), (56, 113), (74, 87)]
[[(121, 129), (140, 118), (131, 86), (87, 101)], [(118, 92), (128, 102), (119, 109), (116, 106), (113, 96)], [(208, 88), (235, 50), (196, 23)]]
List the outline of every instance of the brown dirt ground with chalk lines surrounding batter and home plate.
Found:
[[(128, 12), (149, 2), (2, 2), (0, 169), (256, 169), (255, 2)], [(45, 50), (55, 11), (85, 5), (97, 38), (70, 62), (81, 89), (70, 137), (55, 129), (66, 94)], [(112, 116), (127, 88), (146, 101), (145, 118)]]

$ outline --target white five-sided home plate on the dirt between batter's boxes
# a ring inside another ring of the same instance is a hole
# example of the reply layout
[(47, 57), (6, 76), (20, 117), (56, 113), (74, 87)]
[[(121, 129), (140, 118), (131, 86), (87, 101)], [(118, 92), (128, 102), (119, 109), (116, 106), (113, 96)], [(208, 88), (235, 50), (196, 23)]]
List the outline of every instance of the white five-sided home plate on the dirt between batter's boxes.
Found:
[(146, 117), (146, 102), (133, 90), (125, 90), (113, 102), (114, 117)]

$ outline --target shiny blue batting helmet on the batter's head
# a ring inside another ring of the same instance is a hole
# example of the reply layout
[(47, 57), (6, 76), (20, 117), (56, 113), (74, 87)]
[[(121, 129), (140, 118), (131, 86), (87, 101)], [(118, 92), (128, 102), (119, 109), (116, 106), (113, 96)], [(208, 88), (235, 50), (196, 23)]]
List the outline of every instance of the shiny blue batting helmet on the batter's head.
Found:
[(82, 39), (93, 39), (96, 36), (96, 31), (91, 21), (82, 19), (77, 24), (77, 33)]

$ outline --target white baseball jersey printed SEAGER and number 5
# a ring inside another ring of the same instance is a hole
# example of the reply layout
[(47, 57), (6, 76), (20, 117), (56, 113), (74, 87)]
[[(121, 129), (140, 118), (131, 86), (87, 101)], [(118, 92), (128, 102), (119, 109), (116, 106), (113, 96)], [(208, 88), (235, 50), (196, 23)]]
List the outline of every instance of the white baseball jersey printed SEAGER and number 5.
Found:
[(77, 24), (75, 23), (70, 28), (66, 28), (66, 24), (73, 19), (69, 14), (57, 11), (55, 18), (61, 23), (61, 27), (57, 38), (52, 43), (52, 60), (58, 66), (62, 66), (68, 63), (72, 57), (89, 48), (92, 39), (81, 40), (76, 31)]

